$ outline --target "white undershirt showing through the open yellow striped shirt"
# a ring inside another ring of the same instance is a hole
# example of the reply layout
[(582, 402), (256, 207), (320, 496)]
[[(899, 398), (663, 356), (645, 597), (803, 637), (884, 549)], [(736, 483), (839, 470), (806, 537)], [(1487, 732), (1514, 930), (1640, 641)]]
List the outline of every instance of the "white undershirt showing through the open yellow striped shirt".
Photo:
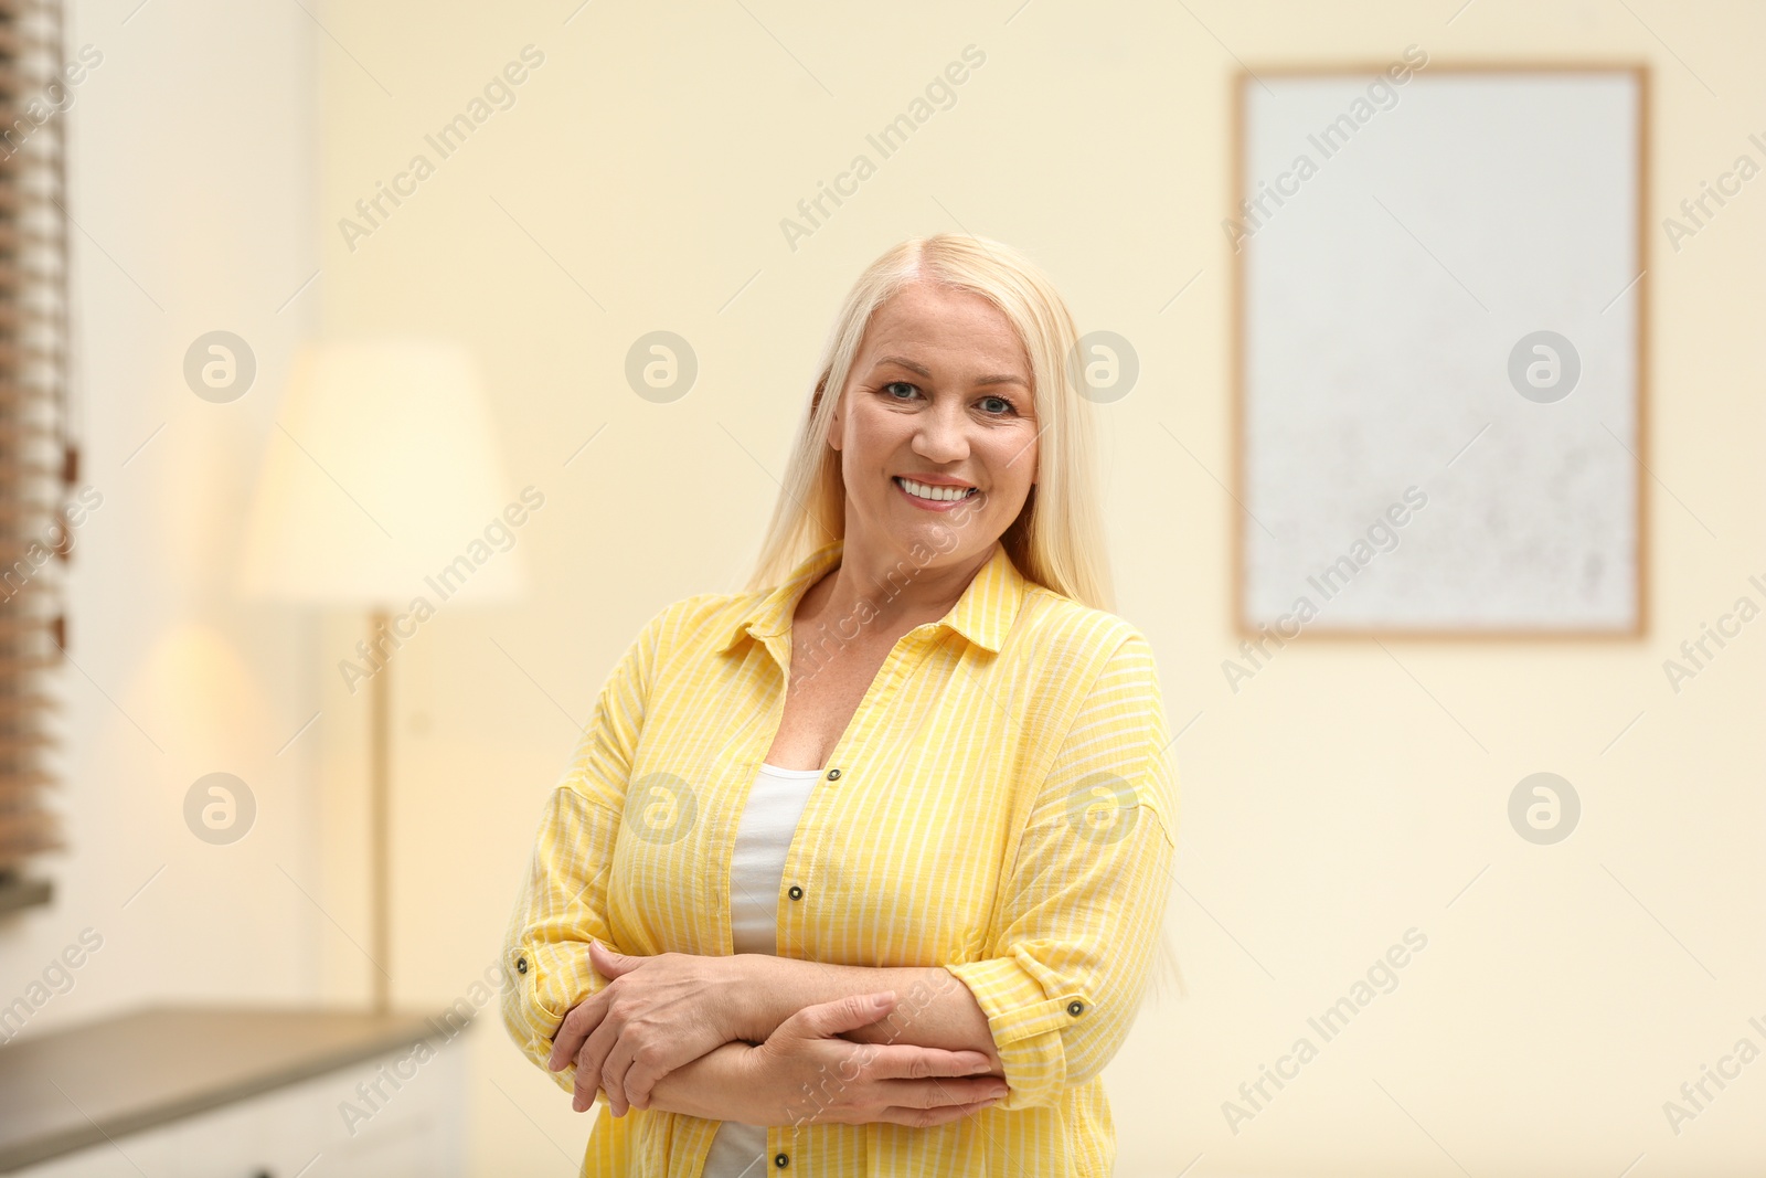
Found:
[[(779, 888), (784, 855), (804, 816), (819, 768), (761, 763), (729, 855), (729, 931), (738, 954), (779, 952)], [(761, 1178), (770, 1173), (766, 1127), (724, 1121), (712, 1139), (703, 1178)]]

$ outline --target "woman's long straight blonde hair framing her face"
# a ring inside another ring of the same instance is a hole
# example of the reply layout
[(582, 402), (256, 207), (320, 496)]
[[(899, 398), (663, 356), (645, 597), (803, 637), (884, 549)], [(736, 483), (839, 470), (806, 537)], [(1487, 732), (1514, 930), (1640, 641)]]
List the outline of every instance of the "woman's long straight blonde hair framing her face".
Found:
[[(846, 537), (846, 484), (828, 426), (871, 316), (915, 281), (980, 295), (1012, 323), (1030, 359), (1038, 424), (1037, 482), (1000, 537), (1028, 579), (1095, 609), (1114, 609), (1098, 503), (1091, 403), (1074, 381), (1079, 332), (1054, 284), (1010, 245), (984, 237), (909, 237), (853, 283), (821, 348), (809, 412), (747, 590), (781, 583), (814, 549)], [(834, 396), (823, 396), (834, 390)]]

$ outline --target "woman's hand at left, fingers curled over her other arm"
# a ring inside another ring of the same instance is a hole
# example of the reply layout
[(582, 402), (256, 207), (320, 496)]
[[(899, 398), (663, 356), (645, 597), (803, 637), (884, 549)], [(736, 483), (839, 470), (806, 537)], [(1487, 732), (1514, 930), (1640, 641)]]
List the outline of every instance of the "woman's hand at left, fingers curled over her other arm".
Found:
[(615, 1116), (650, 1107), (657, 1081), (715, 1047), (742, 1038), (742, 978), (735, 957), (634, 957), (590, 941), (588, 961), (606, 978), (558, 1026), (547, 1067), (576, 1060), (577, 1113), (608, 1093)]

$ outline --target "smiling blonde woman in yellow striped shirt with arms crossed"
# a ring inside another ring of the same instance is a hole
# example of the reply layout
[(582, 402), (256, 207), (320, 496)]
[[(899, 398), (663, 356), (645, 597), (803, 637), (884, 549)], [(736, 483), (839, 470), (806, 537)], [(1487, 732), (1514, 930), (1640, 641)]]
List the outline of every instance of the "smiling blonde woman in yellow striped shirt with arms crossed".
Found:
[(602, 687), (505, 945), (585, 1174), (1111, 1171), (1176, 781), (1074, 348), (1012, 249), (885, 253), (749, 590)]

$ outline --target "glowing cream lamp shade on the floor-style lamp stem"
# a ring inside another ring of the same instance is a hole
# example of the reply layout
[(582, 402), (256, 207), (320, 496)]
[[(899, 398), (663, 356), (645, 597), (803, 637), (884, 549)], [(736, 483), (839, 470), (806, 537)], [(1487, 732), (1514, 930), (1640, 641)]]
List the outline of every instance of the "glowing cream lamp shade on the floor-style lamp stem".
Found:
[(525, 505), (491, 438), (466, 348), (307, 344), (260, 472), (240, 592), (358, 609), (523, 595)]

